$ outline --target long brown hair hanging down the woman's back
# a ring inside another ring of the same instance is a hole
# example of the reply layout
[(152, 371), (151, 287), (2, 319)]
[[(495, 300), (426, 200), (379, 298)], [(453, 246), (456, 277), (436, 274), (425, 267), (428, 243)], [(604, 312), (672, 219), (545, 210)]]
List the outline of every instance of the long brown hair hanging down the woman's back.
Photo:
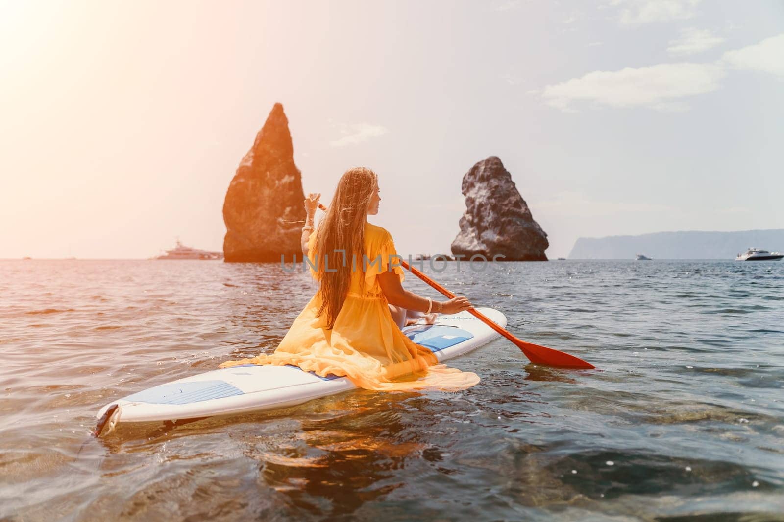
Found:
[[(314, 250), (318, 256), (321, 308), (316, 315), (326, 314), (328, 329), (335, 325), (343, 301), (346, 301), (351, 272), (363, 268), (365, 221), (377, 183), (376, 173), (369, 168), (347, 170), (340, 176), (328, 211), (318, 223)], [(336, 250), (345, 250), (345, 254)], [(325, 262), (327, 258), (328, 262)], [(330, 272), (326, 271), (327, 265)]]

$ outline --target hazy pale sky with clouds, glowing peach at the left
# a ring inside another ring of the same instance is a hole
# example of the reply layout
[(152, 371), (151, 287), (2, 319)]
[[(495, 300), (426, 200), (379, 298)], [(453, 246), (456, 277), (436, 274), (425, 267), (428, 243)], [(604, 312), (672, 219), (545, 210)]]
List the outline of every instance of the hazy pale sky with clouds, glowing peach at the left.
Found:
[(0, 71), (0, 257), (221, 250), (275, 102), (306, 193), (379, 173), (401, 254), (448, 252), (491, 155), (550, 258), (784, 228), (781, 1), (0, 0)]

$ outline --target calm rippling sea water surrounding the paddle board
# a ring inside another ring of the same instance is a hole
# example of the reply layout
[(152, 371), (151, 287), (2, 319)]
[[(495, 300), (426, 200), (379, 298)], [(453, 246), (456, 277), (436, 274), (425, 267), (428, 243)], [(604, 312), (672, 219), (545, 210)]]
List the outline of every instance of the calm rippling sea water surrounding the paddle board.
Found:
[(501, 268), (426, 272), (596, 371), (499, 339), (450, 362), (481, 376), (458, 394), (95, 439), (108, 401), (273, 351), (313, 284), (279, 265), (0, 261), (0, 518), (784, 520), (784, 263)]

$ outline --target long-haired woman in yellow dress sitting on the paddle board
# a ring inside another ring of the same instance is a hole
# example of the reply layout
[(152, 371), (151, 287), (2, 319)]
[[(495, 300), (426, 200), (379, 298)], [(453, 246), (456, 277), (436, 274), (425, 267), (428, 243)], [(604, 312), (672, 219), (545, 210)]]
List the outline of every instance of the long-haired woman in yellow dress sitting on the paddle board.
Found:
[(401, 286), (405, 273), (392, 236), (367, 221), (368, 214), (378, 213), (381, 200), (376, 173), (365, 167), (346, 171), (314, 232), (319, 196), (305, 200), (302, 233), (318, 292), (274, 353), (220, 367), (296, 365), (319, 376), (347, 376), (358, 387), (379, 391), (456, 391), (478, 383), (477, 374), (438, 364), (432, 351), (401, 331), (407, 312), (454, 314), (473, 305), (466, 297), (432, 301)]

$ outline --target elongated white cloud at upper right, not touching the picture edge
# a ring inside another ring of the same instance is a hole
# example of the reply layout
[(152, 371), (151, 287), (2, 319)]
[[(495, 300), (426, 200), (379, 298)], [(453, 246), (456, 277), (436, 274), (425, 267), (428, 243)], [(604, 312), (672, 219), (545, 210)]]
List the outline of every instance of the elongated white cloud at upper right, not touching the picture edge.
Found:
[(547, 85), (542, 97), (564, 112), (571, 104), (590, 102), (613, 107), (643, 106), (654, 110), (687, 110), (681, 98), (719, 88), (724, 70), (712, 63), (659, 63), (650, 67), (595, 70), (583, 77)]

